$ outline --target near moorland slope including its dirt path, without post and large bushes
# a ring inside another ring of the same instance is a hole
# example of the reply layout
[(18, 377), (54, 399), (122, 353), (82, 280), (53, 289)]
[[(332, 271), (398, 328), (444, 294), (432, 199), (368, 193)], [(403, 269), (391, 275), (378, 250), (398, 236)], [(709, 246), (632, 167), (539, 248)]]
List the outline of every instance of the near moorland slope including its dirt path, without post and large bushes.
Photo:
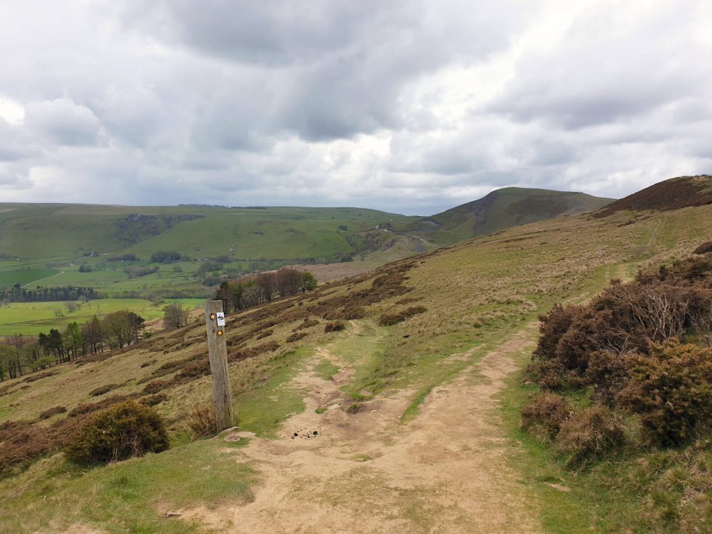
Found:
[[(535, 392), (521, 370), (538, 315), (711, 233), (712, 205), (560, 217), (231, 314), (238, 441), (184, 430), (211, 396), (200, 315), (6, 382), (0, 530), (693, 532), (689, 503), (704, 514), (709, 493), (666, 489), (686, 484), (673, 453), (571, 473), (520, 431), (518, 412)], [(56, 453), (83, 414), (127, 398), (167, 419), (170, 451), (89, 471)]]

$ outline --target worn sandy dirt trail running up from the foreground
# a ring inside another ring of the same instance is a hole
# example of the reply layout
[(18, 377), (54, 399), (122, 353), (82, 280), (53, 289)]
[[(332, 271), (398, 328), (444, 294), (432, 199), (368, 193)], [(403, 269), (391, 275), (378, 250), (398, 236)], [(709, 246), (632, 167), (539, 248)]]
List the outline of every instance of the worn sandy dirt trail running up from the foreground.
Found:
[(498, 425), (493, 399), (516, 368), (513, 355), (533, 347), (535, 328), (434, 389), (408, 424), (399, 420), (412, 392), (358, 414), (335, 406), (353, 371), (321, 348), (313, 364), (328, 357), (341, 372), (333, 380), (303, 372), (295, 382), (308, 391), (305, 412), (288, 419), (283, 439), (255, 438), (242, 449), (261, 473), (254, 501), (187, 517), (225, 533), (539, 532), (538, 514), (508, 468), (516, 443)]

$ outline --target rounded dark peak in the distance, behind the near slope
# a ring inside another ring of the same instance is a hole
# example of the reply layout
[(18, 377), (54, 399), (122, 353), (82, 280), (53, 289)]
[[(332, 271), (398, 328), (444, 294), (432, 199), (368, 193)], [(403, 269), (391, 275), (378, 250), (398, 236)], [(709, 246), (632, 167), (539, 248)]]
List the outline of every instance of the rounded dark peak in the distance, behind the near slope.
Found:
[(407, 221), (402, 230), (436, 244), (454, 244), (510, 226), (592, 211), (611, 201), (585, 193), (507, 187), (440, 214)]

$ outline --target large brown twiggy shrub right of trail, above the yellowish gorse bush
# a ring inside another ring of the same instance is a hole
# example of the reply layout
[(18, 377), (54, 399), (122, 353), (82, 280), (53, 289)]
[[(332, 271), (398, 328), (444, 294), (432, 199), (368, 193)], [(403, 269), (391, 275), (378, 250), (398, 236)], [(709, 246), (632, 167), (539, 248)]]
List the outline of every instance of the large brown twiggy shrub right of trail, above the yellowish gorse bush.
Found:
[(545, 389), (593, 385), (610, 402), (627, 381), (627, 355), (711, 329), (712, 258), (691, 258), (614, 281), (588, 305), (555, 305), (540, 316), (532, 370)]

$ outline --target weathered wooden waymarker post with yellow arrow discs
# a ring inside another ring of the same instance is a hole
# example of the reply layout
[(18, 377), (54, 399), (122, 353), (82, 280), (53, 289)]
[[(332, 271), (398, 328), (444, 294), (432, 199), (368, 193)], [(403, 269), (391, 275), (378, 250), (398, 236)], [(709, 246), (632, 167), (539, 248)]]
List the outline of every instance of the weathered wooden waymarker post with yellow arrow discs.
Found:
[(227, 372), (224, 317), (222, 300), (208, 300), (205, 303), (205, 328), (208, 333), (208, 355), (210, 357), (210, 372), (213, 376), (213, 401), (215, 402), (215, 419), (219, 432), (235, 426), (230, 376)]

